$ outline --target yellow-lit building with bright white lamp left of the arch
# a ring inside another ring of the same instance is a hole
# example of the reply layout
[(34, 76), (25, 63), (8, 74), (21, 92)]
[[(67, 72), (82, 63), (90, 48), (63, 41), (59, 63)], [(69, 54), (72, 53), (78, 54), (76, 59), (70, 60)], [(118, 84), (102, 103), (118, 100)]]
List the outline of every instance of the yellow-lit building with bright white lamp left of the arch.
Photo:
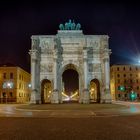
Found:
[(31, 75), (20, 67), (0, 67), (0, 103), (29, 103)]

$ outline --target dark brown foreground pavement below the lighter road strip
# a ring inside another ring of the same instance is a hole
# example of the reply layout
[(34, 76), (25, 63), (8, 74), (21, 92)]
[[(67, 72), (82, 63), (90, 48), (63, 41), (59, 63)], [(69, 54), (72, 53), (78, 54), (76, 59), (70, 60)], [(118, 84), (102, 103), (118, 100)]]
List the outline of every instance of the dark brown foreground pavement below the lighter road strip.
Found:
[(140, 140), (140, 116), (0, 117), (0, 140)]

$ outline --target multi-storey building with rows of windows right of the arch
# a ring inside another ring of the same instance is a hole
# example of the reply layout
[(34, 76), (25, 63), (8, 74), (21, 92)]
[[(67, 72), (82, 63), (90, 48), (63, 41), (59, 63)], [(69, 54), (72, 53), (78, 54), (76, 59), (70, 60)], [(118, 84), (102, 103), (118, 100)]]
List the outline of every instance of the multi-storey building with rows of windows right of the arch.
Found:
[[(130, 93), (137, 93), (140, 100), (140, 65), (112, 65), (110, 71), (110, 89), (113, 100), (130, 100)], [(119, 90), (119, 87), (125, 90)]]

